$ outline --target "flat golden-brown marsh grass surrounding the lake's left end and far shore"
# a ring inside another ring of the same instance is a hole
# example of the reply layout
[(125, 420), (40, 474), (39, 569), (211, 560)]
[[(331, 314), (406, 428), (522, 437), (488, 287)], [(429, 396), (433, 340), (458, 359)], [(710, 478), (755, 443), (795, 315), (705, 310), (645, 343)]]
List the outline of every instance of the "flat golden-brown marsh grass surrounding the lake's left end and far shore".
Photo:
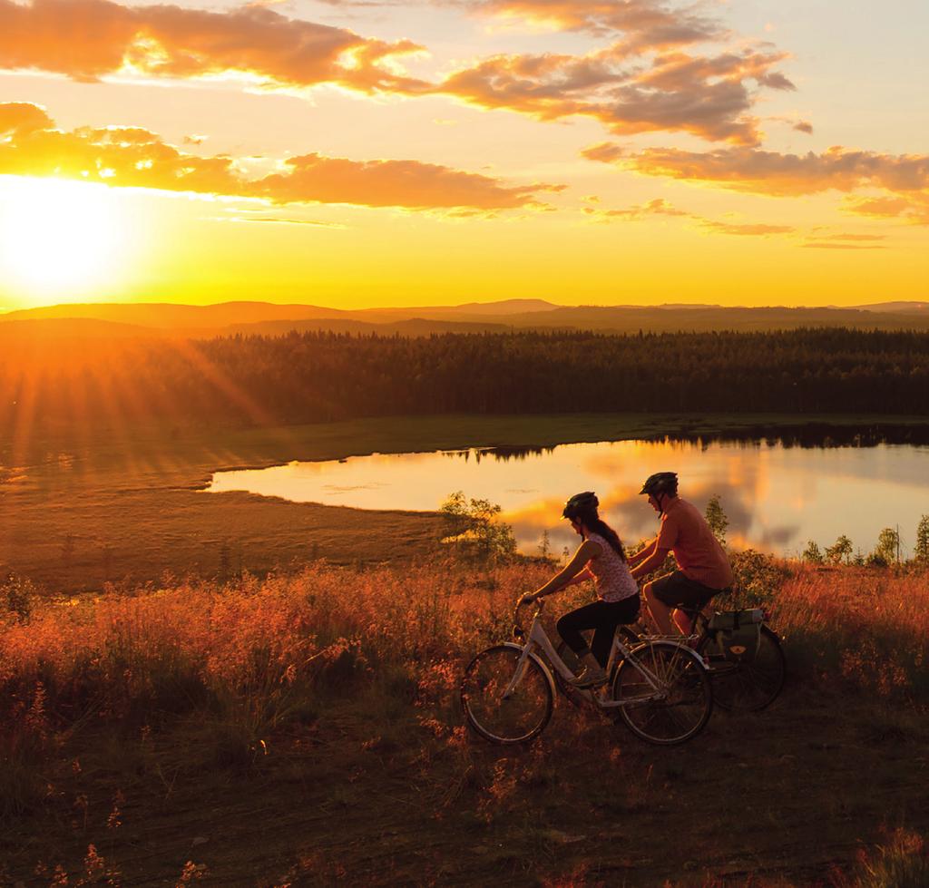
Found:
[[(387, 418), (263, 429), (88, 425), (41, 439), (0, 436), (0, 567), (53, 591), (104, 582), (263, 574), (325, 557), (377, 563), (435, 552), (436, 516), (198, 492), (212, 473), (290, 460), (465, 447), (714, 434), (832, 424), (909, 425), (868, 416), (545, 415)], [(451, 491), (450, 491), (451, 492)], [(438, 503), (437, 503), (438, 507)]]

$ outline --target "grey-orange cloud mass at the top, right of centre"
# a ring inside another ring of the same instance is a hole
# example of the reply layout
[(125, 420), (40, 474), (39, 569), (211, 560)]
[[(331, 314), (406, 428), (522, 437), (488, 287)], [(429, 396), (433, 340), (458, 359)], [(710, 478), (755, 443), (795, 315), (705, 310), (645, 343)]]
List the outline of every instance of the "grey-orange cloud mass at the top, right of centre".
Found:
[(769, 45), (717, 55), (682, 47), (728, 40), (718, 22), (661, 0), (446, 0), (478, 14), (525, 20), (561, 31), (607, 37), (584, 56), (510, 55), (455, 72), (438, 91), (489, 109), (540, 120), (580, 114), (610, 132), (687, 132), (713, 141), (755, 145), (757, 101), (749, 84), (793, 89), (774, 68), (786, 53)]

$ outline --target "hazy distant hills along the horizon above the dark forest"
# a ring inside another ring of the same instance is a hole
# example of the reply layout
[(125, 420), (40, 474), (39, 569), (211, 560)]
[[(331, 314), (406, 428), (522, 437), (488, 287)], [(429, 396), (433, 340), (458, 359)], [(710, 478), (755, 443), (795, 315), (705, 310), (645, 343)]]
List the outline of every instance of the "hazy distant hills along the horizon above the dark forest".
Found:
[[(279, 336), (291, 331), (430, 335), (502, 333), (514, 330), (598, 333), (765, 332), (801, 327), (857, 330), (929, 330), (929, 304), (889, 302), (858, 307), (555, 306), (542, 299), (510, 299), (460, 306), (388, 307), (340, 310), (311, 305), (228, 302), (211, 306), (172, 303), (91, 303), (27, 308), (0, 315), (0, 330), (24, 322), (54, 321), (57, 335), (82, 321), (116, 325), (95, 335), (171, 335), (209, 338), (235, 333)], [(76, 331), (78, 328), (75, 327)], [(21, 328), (24, 332), (25, 328)], [(109, 332), (107, 332), (109, 331)], [(33, 331), (34, 335), (34, 331)]]

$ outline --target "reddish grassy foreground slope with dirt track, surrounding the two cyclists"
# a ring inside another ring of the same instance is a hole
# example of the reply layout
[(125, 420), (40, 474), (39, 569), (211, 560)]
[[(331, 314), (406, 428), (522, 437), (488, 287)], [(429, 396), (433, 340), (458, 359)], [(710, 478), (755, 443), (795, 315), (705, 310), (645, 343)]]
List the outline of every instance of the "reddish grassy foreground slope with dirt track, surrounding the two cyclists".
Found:
[(551, 569), (316, 564), (11, 613), (0, 884), (926, 884), (929, 575), (754, 559), (791, 666), (769, 710), (664, 750), (562, 699), (501, 751), (458, 681)]

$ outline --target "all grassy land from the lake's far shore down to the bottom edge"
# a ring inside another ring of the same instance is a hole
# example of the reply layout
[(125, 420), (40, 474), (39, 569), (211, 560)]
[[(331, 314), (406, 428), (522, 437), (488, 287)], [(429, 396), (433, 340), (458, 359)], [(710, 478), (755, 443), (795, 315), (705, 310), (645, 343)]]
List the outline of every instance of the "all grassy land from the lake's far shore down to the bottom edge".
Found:
[(5, 438), (0, 884), (858, 888), (896, 884), (869, 868), (922, 872), (915, 568), (747, 555), (743, 587), (774, 608), (791, 665), (770, 711), (716, 712), (656, 750), (562, 701), (539, 743), (504, 752), (464, 730), (457, 683), (551, 566), (450, 557), (438, 515), (198, 490), (222, 468), (373, 451), (888, 423), (922, 429), (459, 414)]

